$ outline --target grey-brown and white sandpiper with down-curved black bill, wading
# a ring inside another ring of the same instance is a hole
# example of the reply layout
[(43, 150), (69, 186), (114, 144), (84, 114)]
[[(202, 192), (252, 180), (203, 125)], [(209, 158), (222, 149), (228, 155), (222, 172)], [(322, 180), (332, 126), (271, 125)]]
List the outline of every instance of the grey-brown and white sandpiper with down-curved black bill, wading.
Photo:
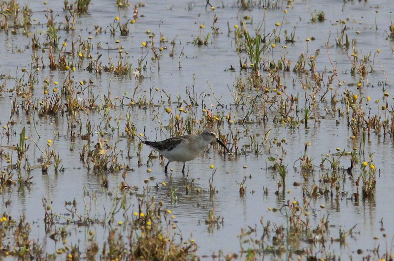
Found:
[(172, 137), (161, 142), (144, 141), (143, 143), (156, 149), (168, 159), (168, 163), (164, 168), (165, 174), (167, 173), (168, 164), (172, 161), (183, 162), (182, 173), (185, 174), (185, 162), (196, 158), (212, 142), (219, 143), (230, 152), (212, 129), (206, 129), (199, 135), (186, 135)]

